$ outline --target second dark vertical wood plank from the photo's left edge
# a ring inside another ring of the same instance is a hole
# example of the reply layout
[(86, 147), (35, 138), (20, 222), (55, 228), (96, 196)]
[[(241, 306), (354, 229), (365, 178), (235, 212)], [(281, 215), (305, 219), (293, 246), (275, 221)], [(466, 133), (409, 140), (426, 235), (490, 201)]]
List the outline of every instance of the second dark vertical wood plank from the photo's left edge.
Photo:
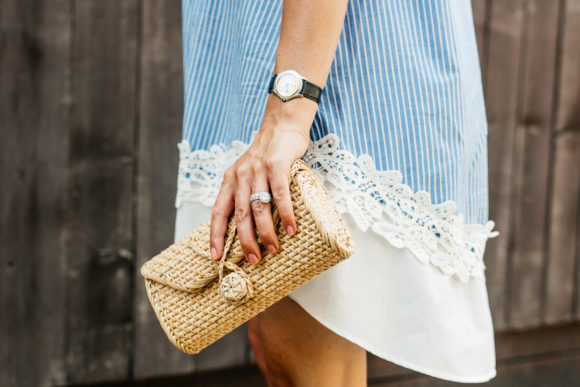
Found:
[(89, 383), (131, 368), (138, 1), (73, 4), (67, 366)]

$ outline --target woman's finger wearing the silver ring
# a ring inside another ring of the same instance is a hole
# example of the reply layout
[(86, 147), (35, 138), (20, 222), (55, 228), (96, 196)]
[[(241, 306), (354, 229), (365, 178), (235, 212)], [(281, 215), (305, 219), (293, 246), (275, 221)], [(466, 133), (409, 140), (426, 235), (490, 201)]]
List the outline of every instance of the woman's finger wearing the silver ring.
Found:
[[(257, 172), (254, 174), (252, 181), (252, 193), (268, 192), (268, 181), (264, 172)], [(272, 219), (272, 205), (270, 203), (262, 203), (259, 200), (254, 200), (250, 204), (252, 213), (254, 215), (254, 223), (258, 230), (258, 236), (262, 244), (270, 253), (275, 253), (278, 250), (278, 237), (274, 229), (274, 222)]]

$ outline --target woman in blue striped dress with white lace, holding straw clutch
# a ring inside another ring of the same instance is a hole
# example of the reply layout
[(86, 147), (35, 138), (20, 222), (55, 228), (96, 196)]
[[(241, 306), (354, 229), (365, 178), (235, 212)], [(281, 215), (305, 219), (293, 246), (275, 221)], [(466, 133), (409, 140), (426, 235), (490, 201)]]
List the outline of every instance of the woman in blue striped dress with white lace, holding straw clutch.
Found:
[[(271, 385), (366, 384), (366, 351), (441, 379), (495, 376), (482, 260), (487, 124), (470, 3), (183, 0), (185, 112), (175, 238), (234, 211), (261, 259), (296, 224), (288, 171), (325, 183), (355, 253), (249, 322)], [(284, 101), (301, 80), (305, 96)], [(285, 78), (283, 77), (285, 75)], [(273, 78), (277, 80), (272, 89)]]

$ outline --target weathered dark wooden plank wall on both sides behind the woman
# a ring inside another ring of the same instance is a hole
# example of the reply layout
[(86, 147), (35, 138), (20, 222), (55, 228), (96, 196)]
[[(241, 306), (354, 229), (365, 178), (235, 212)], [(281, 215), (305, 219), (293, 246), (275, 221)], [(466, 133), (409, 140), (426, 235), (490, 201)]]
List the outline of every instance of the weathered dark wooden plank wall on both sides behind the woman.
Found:
[[(138, 273), (173, 236), (180, 5), (0, 0), (2, 386), (252, 362), (245, 327), (198, 356), (174, 349)], [(501, 231), (486, 255), (495, 326), (578, 322), (580, 0), (473, 7)]]

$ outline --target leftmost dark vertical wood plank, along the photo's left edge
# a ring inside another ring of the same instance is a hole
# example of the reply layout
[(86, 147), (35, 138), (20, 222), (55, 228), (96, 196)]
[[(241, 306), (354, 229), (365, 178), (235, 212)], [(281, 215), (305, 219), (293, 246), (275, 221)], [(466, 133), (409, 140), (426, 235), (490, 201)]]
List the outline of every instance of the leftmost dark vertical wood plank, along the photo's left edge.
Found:
[(0, 385), (66, 382), (67, 1), (0, 2)]

